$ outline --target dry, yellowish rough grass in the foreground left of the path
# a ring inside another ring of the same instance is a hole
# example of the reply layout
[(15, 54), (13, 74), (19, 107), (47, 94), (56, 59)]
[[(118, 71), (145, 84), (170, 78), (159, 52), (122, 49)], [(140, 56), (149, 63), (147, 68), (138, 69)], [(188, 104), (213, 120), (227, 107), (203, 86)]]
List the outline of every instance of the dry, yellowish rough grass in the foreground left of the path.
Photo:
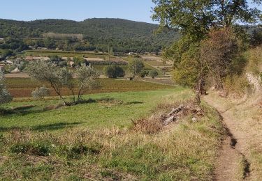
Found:
[(224, 135), (217, 112), (202, 105), (205, 116), (197, 123), (191, 122), (190, 115), (168, 127), (158, 122), (162, 113), (184, 104), (184, 99), (159, 104), (152, 116), (137, 120), (130, 129), (91, 131), (82, 127), (59, 136), (20, 129), (8, 132), (0, 142), (1, 155), (6, 157), (0, 161), (1, 177), (212, 180), (214, 160)]

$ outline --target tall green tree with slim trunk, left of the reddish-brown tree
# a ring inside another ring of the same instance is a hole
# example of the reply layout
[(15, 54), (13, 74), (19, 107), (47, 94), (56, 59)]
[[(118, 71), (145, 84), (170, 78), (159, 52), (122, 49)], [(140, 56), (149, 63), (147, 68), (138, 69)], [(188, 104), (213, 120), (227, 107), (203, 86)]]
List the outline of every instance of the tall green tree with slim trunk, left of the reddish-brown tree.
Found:
[[(152, 19), (160, 22), (159, 30), (163, 31), (168, 27), (177, 29), (182, 34), (182, 38), (166, 49), (163, 56), (174, 61), (174, 79), (178, 83), (196, 88), (196, 103), (199, 104), (199, 94), (203, 89), (207, 71), (210, 70), (208, 68), (212, 67), (212, 64), (208, 65), (211, 62), (204, 58), (205, 51), (201, 51), (201, 41), (208, 38), (208, 33), (214, 28), (239, 29), (240, 26), (235, 26), (238, 22), (245, 24), (260, 22), (261, 11), (249, 8), (247, 1), (242, 0), (153, 0), (153, 2), (156, 6), (153, 9)], [(254, 3), (261, 3), (261, 0)], [(204, 42), (203, 44), (205, 45)], [(217, 49), (217, 56), (219, 49), (224, 49), (224, 45), (221, 46), (214, 47), (214, 50)], [(229, 47), (233, 48), (231, 45)], [(233, 52), (230, 50), (226, 54), (233, 55)], [(226, 55), (221, 59), (225, 58)], [(225, 61), (229, 62), (231, 58), (232, 56)], [(219, 61), (221, 59), (219, 57)]]

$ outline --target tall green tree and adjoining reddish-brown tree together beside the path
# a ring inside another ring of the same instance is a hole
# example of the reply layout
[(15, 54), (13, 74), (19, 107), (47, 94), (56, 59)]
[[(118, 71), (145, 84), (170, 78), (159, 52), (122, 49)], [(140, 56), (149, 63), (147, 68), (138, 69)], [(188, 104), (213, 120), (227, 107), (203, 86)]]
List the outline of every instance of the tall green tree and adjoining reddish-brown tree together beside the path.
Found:
[[(243, 24), (261, 22), (261, 10), (242, 0), (153, 2), (152, 18), (160, 22), (160, 31), (169, 27), (182, 35), (163, 56), (174, 62), (175, 81), (196, 90), (197, 104), (206, 82), (221, 90), (226, 77), (242, 73), (245, 63), (239, 57), (252, 43)], [(251, 38), (254, 45), (259, 44), (256, 37), (259, 33)]]

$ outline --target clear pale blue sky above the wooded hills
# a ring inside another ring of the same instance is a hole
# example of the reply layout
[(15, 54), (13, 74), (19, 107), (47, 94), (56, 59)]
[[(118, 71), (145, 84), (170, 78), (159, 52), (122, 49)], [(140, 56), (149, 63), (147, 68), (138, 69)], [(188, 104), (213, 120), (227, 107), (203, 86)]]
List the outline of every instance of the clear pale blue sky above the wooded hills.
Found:
[(153, 6), (152, 0), (3, 0), (0, 18), (82, 21), (92, 17), (114, 17), (152, 23)]

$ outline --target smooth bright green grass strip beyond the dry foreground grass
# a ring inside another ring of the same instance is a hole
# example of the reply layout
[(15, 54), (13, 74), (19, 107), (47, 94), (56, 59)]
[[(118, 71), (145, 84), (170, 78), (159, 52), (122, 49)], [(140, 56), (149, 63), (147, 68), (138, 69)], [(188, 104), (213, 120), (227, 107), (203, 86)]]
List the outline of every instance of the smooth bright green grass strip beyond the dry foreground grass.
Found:
[[(109, 100), (109, 102), (80, 104), (74, 107), (64, 107), (44, 111), (48, 105), (57, 104), (57, 100), (13, 102), (8, 107), (22, 107), (15, 113), (0, 116), (0, 131), (15, 128), (30, 128), (34, 130), (59, 130), (65, 127), (128, 127), (131, 118), (146, 116), (164, 97), (180, 93), (183, 88), (166, 89), (147, 92), (104, 93), (85, 95), (94, 100)], [(31, 107), (29, 107), (31, 106)]]

